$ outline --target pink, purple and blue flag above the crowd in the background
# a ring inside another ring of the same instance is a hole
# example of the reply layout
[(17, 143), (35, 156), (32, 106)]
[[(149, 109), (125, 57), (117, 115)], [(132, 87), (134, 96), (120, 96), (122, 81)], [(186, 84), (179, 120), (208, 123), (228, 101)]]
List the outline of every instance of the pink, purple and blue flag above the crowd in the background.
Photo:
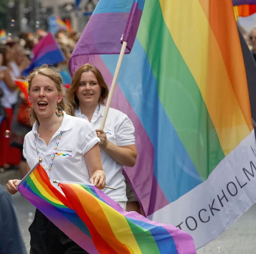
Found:
[(30, 71), (43, 64), (57, 64), (66, 60), (59, 44), (50, 32), (33, 48), (33, 55), (30, 66), (23, 71), (23, 76), (27, 76)]

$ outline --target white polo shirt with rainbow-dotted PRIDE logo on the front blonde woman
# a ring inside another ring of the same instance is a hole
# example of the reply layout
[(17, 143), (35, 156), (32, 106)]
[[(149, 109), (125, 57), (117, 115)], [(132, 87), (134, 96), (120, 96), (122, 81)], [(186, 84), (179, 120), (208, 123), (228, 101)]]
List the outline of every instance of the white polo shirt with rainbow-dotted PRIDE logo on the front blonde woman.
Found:
[[(93, 127), (86, 120), (67, 115), (64, 111), (63, 114), (61, 126), (52, 136), (48, 146), (39, 137), (38, 123), (34, 123), (32, 131), (25, 136), (23, 156), (26, 158), (29, 168), (33, 168), (39, 159), (36, 151), (37, 146), (39, 154), (44, 160), (41, 165), (45, 164), (49, 170), (52, 153), (55, 152), (52, 169), (48, 171), (51, 183), (53, 180), (89, 183), (90, 175), (84, 154), (100, 140)], [(62, 135), (59, 139), (61, 132)], [(57, 141), (58, 147), (55, 150)], [(52, 185), (58, 187), (57, 183), (52, 183)], [(60, 190), (59, 187), (58, 189)]]

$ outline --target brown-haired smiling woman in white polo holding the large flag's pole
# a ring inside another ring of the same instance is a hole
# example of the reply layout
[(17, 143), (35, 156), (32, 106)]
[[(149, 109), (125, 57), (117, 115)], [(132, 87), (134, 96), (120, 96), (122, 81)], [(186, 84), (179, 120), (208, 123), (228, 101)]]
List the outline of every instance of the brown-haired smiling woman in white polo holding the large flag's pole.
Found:
[(110, 108), (104, 130), (100, 129), (107, 97), (108, 87), (95, 66), (87, 63), (77, 69), (68, 90), (71, 114), (87, 120), (96, 129), (106, 181), (117, 189), (103, 191), (125, 209), (127, 197), (122, 167), (133, 167), (136, 162), (134, 126), (126, 114)]

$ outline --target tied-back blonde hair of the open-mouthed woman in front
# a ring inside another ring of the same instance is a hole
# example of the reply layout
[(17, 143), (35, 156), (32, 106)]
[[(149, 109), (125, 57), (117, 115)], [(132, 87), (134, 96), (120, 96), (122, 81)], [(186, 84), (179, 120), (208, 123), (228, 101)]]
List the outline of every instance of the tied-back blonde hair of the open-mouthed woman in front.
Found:
[[(26, 78), (29, 82), (28, 85), (28, 93), (30, 93), (30, 88), (31, 88), (31, 84), (32, 84), (32, 80), (35, 76), (37, 75), (44, 75), (46, 77), (49, 77), (52, 81), (54, 81), (56, 88), (58, 90), (58, 94), (59, 95), (63, 95), (63, 98), (61, 100), (61, 102), (58, 104), (67, 114), (70, 114), (70, 106), (67, 103), (67, 99), (65, 96), (65, 89), (64, 86), (62, 85), (62, 77), (61, 75), (53, 70), (52, 68), (50, 68), (47, 65), (43, 65), (41, 67), (35, 68), (30, 74), (29, 76)], [(30, 117), (29, 117), (29, 121), (30, 124), (33, 125), (35, 123), (35, 121), (38, 122), (38, 117), (35, 113), (34, 108), (31, 106), (30, 108)]]

